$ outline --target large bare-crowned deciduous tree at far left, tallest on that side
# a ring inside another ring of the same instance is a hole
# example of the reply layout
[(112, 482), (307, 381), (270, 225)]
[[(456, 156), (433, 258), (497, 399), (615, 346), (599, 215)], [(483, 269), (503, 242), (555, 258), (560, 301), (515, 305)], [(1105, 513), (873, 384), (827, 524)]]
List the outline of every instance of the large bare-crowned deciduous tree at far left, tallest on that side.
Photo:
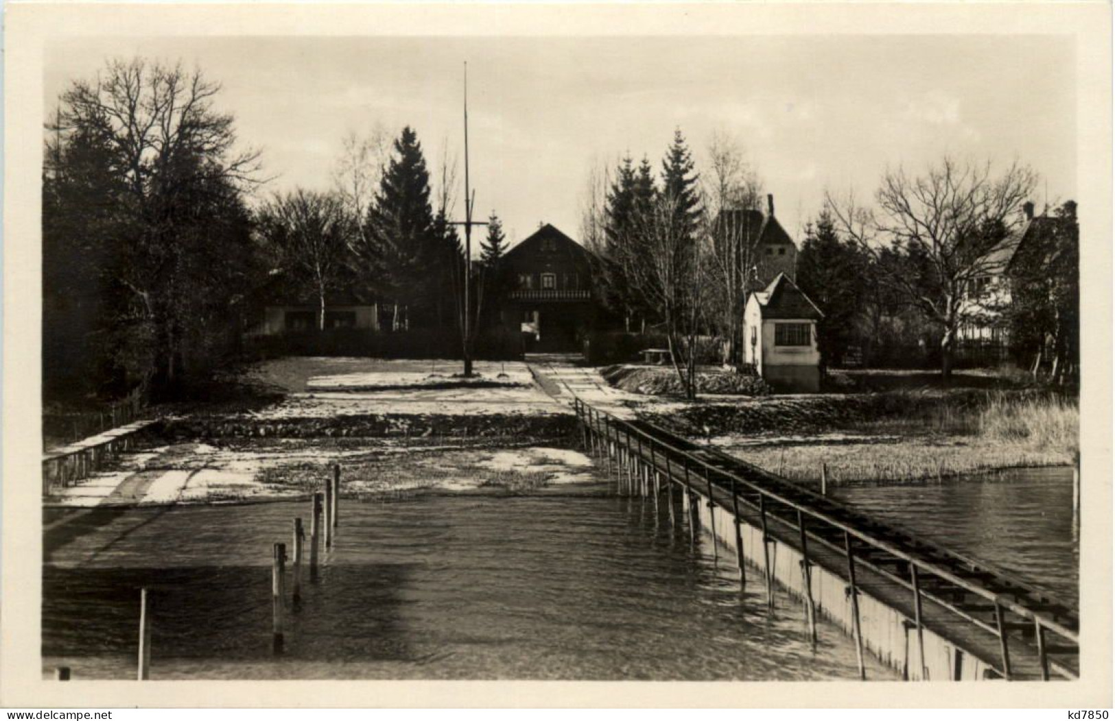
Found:
[(104, 150), (118, 189), (101, 197), (101, 206), (130, 228), (114, 241), (113, 282), (133, 294), (154, 329), (156, 374), (167, 384), (196, 324), (191, 301), (207, 283), (204, 271), (188, 269), (211, 234), (185, 228), (263, 182), (259, 152), (240, 146), (232, 115), (214, 105), (220, 90), (181, 64), (113, 60), (95, 80), (69, 86), (57, 117)]

